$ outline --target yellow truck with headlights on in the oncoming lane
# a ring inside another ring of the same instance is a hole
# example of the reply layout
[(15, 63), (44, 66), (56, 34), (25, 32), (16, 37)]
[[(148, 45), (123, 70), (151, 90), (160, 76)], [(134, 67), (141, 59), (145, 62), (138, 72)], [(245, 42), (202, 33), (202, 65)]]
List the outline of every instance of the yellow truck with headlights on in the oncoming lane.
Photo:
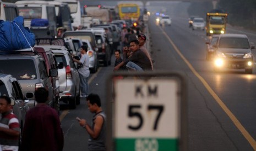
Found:
[(221, 10), (211, 10), (206, 14), (206, 36), (226, 33), (227, 13)]

